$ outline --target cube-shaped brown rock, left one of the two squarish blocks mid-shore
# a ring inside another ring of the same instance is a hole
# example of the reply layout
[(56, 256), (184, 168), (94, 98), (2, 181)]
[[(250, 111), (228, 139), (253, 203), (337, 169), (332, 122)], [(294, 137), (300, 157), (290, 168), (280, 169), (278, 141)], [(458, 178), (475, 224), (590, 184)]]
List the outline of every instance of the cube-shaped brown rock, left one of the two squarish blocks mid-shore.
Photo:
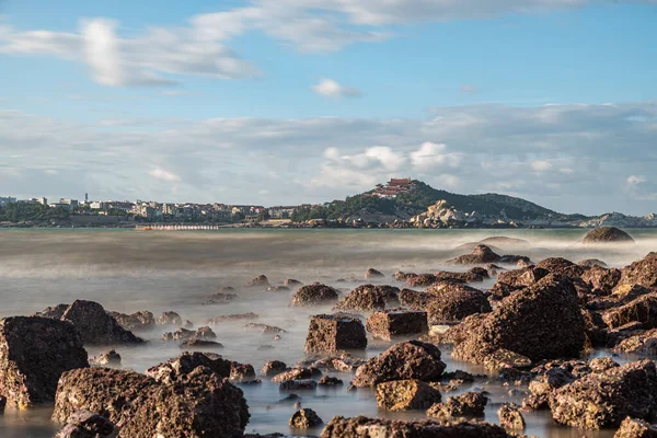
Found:
[(330, 353), (366, 347), (367, 335), (360, 320), (341, 314), (321, 314), (310, 319), (303, 348), (306, 353)]

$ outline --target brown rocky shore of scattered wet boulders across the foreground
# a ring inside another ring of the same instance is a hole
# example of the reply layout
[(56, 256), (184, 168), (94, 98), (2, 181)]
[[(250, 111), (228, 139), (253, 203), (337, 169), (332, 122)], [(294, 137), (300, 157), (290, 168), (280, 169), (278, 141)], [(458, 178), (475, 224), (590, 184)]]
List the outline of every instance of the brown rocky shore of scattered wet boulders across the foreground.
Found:
[[(311, 312), (304, 356), (290, 358), (296, 362), (289, 366), (269, 360), (262, 370), (258, 365), (260, 372), (217, 354), (226, 323), (243, 324), (273, 344), (288, 335), (254, 312), (194, 326), (183, 312), (120, 313), (77, 299), (5, 318), (0, 405), (53, 406), (59, 438), (255, 437), (247, 431), (253, 414), (245, 391), (267, 381), (278, 385), (283, 402), (299, 403), (289, 430), (269, 436), (514, 437), (522, 436), (525, 416), (534, 411), (574, 433), (655, 436), (657, 253), (622, 267), (599, 260), (532, 261), (522, 254), (522, 242), (510, 242), (517, 253), (498, 253), (496, 244), (509, 245), (502, 239), (465, 245), (463, 254), (445, 261), (453, 270), (371, 268), (350, 290), (254, 273), (247, 284), (199, 302), (230, 306), (241, 293), (283, 295), (289, 318)], [(579, 243), (633, 240), (602, 228)], [(145, 348), (149, 331), (180, 345), (181, 354), (145, 372), (122, 368), (122, 348)], [(384, 348), (368, 357), (373, 345)], [(106, 353), (90, 358), (88, 349), (99, 347)], [(592, 350), (608, 353), (589, 357)], [(447, 358), (476, 365), (485, 374), (449, 369)], [(481, 389), (491, 383), (522, 394), (521, 404)], [(312, 403), (301, 405), (298, 395), (322, 387), (370, 391), (366, 403), (380, 412), (411, 412), (419, 419), (357, 412), (325, 417)], [(487, 406), (498, 411), (495, 424), (483, 419)]]

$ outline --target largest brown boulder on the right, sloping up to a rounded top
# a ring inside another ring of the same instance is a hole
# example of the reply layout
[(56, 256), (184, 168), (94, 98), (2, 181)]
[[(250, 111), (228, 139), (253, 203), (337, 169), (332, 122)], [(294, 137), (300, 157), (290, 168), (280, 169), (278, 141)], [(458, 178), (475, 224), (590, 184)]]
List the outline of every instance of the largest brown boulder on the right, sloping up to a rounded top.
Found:
[[(470, 320), (470, 321), (469, 321)], [(549, 275), (534, 286), (505, 298), (491, 313), (470, 316), (457, 331), (452, 357), (486, 362), (498, 349), (531, 360), (578, 356), (585, 344), (585, 321), (573, 283)]]

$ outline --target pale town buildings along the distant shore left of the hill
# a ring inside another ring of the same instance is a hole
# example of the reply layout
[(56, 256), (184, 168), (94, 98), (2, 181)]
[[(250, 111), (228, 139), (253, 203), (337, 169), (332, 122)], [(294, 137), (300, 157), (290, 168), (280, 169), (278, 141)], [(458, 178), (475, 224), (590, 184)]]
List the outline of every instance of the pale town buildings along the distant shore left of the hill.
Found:
[(170, 204), (157, 201), (135, 203), (127, 200), (89, 200), (85, 195), (83, 201), (78, 199), (59, 199), (57, 203), (48, 204), (46, 198), (16, 199), (15, 197), (0, 197), (0, 207), (12, 204), (42, 204), (51, 208), (65, 208), (78, 215), (105, 215), (105, 216), (129, 216), (147, 221), (260, 221), (269, 219), (290, 219), (300, 206), (275, 206), (264, 207), (256, 205), (229, 205), (229, 204)]

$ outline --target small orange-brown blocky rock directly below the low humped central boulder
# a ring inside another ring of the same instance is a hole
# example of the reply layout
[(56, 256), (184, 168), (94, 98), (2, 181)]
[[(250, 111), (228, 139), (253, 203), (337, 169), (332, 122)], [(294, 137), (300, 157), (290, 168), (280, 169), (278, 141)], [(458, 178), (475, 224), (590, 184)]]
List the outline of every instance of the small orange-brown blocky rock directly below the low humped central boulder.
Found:
[(377, 384), (377, 405), (387, 411), (426, 410), (440, 402), (440, 391), (420, 380)]

